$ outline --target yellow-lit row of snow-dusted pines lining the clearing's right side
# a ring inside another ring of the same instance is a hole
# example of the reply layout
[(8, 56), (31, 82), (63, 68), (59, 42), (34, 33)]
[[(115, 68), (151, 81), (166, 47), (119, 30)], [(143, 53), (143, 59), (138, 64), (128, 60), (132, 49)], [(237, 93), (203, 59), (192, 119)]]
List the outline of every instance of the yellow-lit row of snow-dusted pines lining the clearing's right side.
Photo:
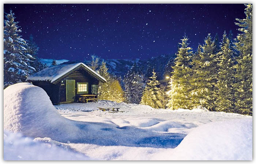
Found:
[[(202, 106), (210, 111), (252, 115), (252, 4), (246, 5), (245, 15), (245, 19), (236, 19), (241, 34), (234, 40), (225, 32), (221, 42), (218, 36), (212, 39), (208, 34), (194, 53), (188, 37), (181, 39), (171, 66), (168, 108)], [(161, 108), (158, 104), (164, 103), (164, 94), (158, 93), (161, 89), (154, 76), (153, 72), (140, 103)]]

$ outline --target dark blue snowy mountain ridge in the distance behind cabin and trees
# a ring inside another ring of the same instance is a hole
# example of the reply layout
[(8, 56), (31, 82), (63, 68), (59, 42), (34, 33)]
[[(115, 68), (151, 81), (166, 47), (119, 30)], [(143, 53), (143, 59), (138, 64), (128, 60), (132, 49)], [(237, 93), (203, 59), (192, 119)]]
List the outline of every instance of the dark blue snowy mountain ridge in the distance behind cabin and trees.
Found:
[[(164, 54), (156, 57), (152, 57), (146, 60), (136, 59), (102, 59), (106, 62), (106, 66), (109, 70), (109, 73), (115, 75), (117, 77), (123, 77), (127, 74), (128, 70), (131, 69), (134, 62), (139, 66), (139, 70), (147, 77), (151, 76), (152, 70), (154, 69), (157, 73), (158, 80), (164, 78), (164, 73), (166, 71), (165, 66), (167, 65), (169, 60), (174, 59), (174, 55)], [(42, 63), (51, 65), (53, 59), (40, 59)], [(61, 64), (63, 62), (68, 62), (68, 60), (56, 60), (57, 64)], [(78, 61), (79, 62), (79, 61)], [(82, 61), (81, 61), (82, 62)], [(83, 61), (85, 62), (85, 61)], [(100, 61), (101, 62), (101, 61)], [(146, 78), (147, 78), (146, 77)]]

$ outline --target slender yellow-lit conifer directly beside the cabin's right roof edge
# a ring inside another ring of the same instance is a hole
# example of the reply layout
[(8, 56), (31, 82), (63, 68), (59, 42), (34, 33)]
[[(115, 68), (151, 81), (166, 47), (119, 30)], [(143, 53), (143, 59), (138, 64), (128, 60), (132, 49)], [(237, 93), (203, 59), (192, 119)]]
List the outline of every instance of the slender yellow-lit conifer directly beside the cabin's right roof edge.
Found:
[(108, 68), (106, 67), (106, 62), (102, 61), (101, 66), (99, 67), (99, 75), (104, 77), (107, 82), (106, 83), (99, 83), (98, 88), (98, 98), (102, 100), (109, 99), (109, 87), (110, 87), (110, 75), (108, 73)]

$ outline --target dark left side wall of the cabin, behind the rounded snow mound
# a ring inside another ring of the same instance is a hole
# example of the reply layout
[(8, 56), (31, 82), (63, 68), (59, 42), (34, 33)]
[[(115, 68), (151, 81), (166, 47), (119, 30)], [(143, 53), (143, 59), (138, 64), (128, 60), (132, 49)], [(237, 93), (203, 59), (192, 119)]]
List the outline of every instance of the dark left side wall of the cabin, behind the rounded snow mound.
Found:
[(33, 85), (38, 86), (45, 90), (47, 95), (50, 97), (50, 100), (53, 104), (59, 104), (60, 95), (59, 95), (59, 85), (52, 84), (48, 81), (33, 81)]

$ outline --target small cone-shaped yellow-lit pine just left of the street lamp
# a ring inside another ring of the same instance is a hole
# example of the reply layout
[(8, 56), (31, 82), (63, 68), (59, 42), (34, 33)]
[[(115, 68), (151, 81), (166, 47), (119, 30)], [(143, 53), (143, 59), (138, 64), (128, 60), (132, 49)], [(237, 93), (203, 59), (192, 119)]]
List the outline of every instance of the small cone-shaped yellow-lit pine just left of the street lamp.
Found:
[(156, 109), (165, 108), (164, 97), (161, 89), (158, 87), (160, 83), (157, 80), (154, 70), (152, 73), (153, 75), (149, 77), (150, 80), (148, 80), (148, 83), (144, 89), (140, 104), (149, 105)]

